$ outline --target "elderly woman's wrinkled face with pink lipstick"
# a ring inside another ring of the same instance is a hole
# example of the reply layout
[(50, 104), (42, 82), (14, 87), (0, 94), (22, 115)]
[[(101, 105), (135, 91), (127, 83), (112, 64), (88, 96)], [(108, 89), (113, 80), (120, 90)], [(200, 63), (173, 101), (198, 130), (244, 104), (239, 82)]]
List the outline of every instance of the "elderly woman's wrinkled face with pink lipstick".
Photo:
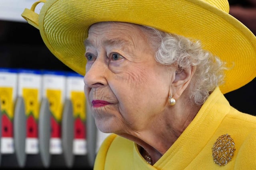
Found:
[(130, 23), (102, 22), (89, 29), (84, 91), (102, 132), (142, 131), (166, 108), (170, 72), (155, 61), (147, 35)]

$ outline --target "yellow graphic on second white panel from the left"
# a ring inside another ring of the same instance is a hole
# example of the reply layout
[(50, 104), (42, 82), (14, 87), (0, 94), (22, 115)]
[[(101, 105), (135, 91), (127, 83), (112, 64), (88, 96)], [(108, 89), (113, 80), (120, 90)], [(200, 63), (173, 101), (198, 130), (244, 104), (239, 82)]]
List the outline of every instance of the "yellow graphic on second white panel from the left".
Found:
[(26, 115), (32, 114), (36, 120), (39, 117), (38, 89), (23, 88), (22, 90)]

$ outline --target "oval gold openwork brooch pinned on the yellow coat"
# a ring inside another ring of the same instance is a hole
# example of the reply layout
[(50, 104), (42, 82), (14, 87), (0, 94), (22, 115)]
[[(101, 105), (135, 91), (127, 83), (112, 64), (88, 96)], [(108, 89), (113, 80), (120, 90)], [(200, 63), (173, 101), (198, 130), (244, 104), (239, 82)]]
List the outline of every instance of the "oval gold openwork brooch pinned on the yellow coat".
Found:
[(212, 147), (214, 162), (219, 166), (226, 165), (232, 159), (235, 150), (235, 143), (230, 135), (221, 135)]

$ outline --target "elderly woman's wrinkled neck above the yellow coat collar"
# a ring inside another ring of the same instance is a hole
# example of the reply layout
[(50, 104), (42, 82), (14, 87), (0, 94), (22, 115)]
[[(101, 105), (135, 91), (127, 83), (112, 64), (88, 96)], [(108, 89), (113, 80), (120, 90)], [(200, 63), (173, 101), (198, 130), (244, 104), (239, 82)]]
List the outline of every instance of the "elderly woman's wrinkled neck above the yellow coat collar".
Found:
[(180, 137), (201, 107), (197, 105), (184, 106), (186, 102), (185, 104), (179, 103), (180, 105), (170, 107), (170, 110), (155, 117), (143, 130), (118, 135), (134, 141), (146, 150), (154, 164)]

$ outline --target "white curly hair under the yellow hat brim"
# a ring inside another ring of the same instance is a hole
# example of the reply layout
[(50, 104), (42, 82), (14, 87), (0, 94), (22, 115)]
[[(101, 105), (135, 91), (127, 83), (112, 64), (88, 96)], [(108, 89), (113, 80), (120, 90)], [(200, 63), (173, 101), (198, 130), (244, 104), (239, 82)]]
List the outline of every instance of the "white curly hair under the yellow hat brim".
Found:
[[(143, 26), (155, 48), (155, 59), (164, 65), (178, 65), (182, 70), (196, 66), (196, 72), (190, 82), (190, 99), (202, 105), (210, 93), (224, 82), (225, 63), (209, 51), (202, 49), (200, 41), (192, 41), (180, 35), (159, 31)], [(153, 41), (152, 41), (153, 40)]]

